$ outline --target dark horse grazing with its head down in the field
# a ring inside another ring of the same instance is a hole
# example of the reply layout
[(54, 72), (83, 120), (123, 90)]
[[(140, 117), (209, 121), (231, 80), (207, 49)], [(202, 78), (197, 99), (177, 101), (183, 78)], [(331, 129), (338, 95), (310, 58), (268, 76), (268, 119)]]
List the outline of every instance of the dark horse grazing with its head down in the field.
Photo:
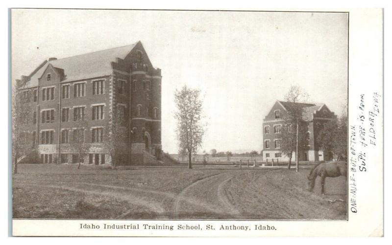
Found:
[(308, 189), (313, 191), (316, 178), (321, 177), (321, 194), (324, 195), (324, 183), (327, 177), (347, 177), (347, 163), (344, 161), (321, 162), (317, 164), (308, 175)]

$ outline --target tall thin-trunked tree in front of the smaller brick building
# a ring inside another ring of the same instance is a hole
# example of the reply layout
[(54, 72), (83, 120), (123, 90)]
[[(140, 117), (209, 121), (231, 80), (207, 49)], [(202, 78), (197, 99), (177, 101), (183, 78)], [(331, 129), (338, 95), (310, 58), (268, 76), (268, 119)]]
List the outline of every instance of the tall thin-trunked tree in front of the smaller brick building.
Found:
[[(309, 94), (301, 87), (291, 86), (285, 95), (285, 100), (288, 103), (286, 106), (287, 112), (284, 115), (285, 124), (293, 125), (295, 128), (295, 172), (298, 172), (298, 152), (299, 152), (299, 127), (302, 123), (302, 107), (296, 103), (305, 102), (309, 99)], [(284, 138), (282, 138), (284, 140)]]

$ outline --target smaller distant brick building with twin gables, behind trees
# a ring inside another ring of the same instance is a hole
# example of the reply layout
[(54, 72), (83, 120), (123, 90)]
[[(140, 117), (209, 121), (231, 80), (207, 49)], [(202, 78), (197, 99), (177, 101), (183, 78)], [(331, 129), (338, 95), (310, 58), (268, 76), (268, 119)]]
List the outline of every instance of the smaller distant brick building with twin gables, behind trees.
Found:
[[(293, 107), (302, 109), (302, 120), (307, 127), (305, 135), (307, 149), (298, 152), (298, 159), (303, 161), (331, 159), (331, 153), (323, 152), (319, 149), (317, 135), (323, 123), (336, 118), (335, 113), (330, 111), (325, 104), (316, 105), (313, 103), (292, 103), (284, 101), (276, 101), (263, 120), (263, 158), (278, 158), (282, 161), (289, 159), (280, 150), (282, 140), (281, 129), (284, 123), (284, 113)], [(293, 159), (295, 159), (295, 153), (293, 153)]]

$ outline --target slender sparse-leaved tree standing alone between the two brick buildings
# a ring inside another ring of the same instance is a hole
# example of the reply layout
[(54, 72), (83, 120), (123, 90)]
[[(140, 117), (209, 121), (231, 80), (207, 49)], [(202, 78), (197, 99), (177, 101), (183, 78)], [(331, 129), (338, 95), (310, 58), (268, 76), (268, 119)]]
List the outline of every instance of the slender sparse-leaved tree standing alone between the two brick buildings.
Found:
[(174, 102), (177, 111), (174, 113), (177, 119), (177, 139), (179, 149), (185, 149), (188, 153), (188, 168), (192, 168), (192, 153), (201, 147), (205, 125), (201, 122), (202, 100), (200, 90), (189, 89), (184, 86), (174, 93)]

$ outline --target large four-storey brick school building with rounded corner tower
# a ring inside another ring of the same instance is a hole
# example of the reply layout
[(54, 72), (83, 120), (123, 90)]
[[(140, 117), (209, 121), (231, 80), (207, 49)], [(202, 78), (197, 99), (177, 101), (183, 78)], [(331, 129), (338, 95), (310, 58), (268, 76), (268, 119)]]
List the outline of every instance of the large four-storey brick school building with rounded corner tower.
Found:
[[(121, 163), (140, 164), (161, 153), (161, 70), (154, 68), (139, 41), (63, 59), (49, 58), (17, 80), (31, 94), (26, 138), (41, 162), (77, 162), (74, 135), (82, 134), (85, 164), (111, 164), (105, 147), (113, 120), (122, 120)], [(29, 93), (27, 93), (29, 92)], [(122, 118), (114, 117), (122, 111)], [(77, 128), (84, 118), (86, 127)], [(109, 126), (108, 126), (109, 125)]]

